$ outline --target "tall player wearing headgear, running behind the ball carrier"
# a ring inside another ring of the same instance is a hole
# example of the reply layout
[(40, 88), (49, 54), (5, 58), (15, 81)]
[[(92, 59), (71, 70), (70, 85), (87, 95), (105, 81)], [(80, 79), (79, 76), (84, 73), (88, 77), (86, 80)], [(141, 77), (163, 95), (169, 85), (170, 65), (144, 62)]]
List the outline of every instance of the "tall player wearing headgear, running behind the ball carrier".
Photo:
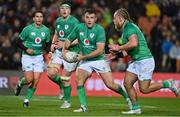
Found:
[[(71, 8), (69, 4), (63, 3), (60, 6), (60, 17), (56, 19), (55, 34), (51, 45), (51, 61), (48, 65), (48, 77), (59, 85), (60, 96), (64, 97), (64, 103), (61, 108), (69, 108), (71, 106), (71, 84), (70, 75), (76, 69), (77, 63), (68, 63), (63, 60), (61, 50), (65, 39), (72, 32), (79, 21), (70, 15)], [(78, 51), (77, 40), (71, 44), (70, 50)], [(62, 76), (59, 76), (59, 69), (63, 65)]]

